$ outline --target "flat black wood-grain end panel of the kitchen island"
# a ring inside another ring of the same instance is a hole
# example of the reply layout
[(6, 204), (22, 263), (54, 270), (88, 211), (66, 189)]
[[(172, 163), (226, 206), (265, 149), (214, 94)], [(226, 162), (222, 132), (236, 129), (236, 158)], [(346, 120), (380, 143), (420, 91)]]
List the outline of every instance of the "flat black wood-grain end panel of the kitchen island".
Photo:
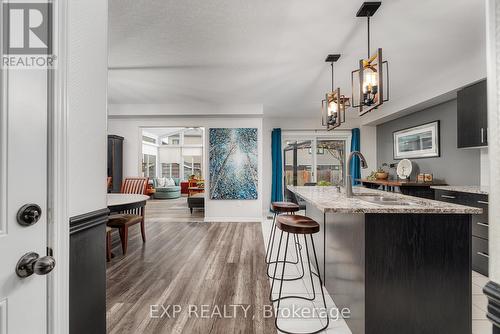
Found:
[(468, 215), (367, 215), (366, 333), (472, 332)]

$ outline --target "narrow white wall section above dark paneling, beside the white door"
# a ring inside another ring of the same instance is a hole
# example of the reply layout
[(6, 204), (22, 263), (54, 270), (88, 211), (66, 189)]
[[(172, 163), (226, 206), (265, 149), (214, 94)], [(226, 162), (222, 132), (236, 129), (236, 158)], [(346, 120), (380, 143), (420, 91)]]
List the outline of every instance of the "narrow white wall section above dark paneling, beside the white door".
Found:
[(68, 206), (71, 217), (107, 206), (108, 2), (71, 1), (67, 21)]

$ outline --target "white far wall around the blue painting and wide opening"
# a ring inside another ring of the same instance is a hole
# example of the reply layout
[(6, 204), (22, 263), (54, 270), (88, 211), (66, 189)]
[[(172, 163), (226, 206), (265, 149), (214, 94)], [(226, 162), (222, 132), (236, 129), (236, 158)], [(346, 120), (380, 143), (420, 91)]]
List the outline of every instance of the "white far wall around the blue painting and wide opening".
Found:
[[(137, 106), (140, 108), (140, 105)], [(123, 172), (124, 176), (139, 174), (141, 158), (141, 127), (205, 127), (208, 128), (238, 128), (250, 127), (258, 129), (258, 164), (259, 182), (257, 200), (216, 201), (208, 198), (205, 193), (205, 220), (206, 221), (260, 221), (262, 217), (262, 190), (263, 190), (263, 132), (261, 117), (172, 117), (154, 116), (132, 118), (114, 118), (108, 121), (108, 133), (123, 136)], [(206, 132), (207, 133), (207, 132)], [(208, 166), (208, 135), (205, 136), (204, 166)], [(205, 180), (208, 181), (208, 170), (204, 169)]]

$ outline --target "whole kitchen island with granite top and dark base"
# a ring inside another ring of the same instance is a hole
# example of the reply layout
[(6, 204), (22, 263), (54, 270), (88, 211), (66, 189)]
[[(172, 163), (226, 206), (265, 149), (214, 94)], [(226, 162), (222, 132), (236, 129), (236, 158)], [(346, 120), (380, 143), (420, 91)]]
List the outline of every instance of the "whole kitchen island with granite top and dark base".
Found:
[(353, 334), (471, 334), (471, 216), (479, 208), (355, 187), (293, 187), (325, 287)]

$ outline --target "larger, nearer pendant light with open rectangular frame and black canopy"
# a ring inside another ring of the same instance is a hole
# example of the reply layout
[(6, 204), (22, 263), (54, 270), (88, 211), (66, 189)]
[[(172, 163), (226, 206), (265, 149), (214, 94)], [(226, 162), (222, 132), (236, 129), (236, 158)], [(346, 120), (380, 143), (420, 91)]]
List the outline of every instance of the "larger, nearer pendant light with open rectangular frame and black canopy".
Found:
[(389, 64), (382, 60), (381, 48), (374, 54), (370, 52), (370, 17), (381, 4), (365, 2), (356, 14), (356, 17), (366, 17), (368, 23), (367, 58), (361, 59), (359, 69), (351, 73), (353, 107), (358, 108), (360, 116), (389, 101)]

